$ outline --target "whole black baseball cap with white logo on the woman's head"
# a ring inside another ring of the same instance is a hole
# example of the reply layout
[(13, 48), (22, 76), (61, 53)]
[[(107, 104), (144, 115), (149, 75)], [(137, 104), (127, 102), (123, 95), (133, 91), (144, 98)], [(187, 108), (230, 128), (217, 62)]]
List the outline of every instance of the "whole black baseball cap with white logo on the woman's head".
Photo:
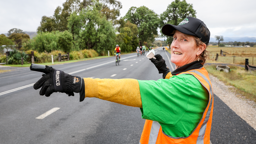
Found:
[(162, 27), (162, 33), (167, 36), (173, 36), (172, 32), (178, 30), (187, 35), (197, 36), (203, 43), (208, 45), (210, 40), (210, 31), (203, 21), (194, 17), (187, 17), (177, 26), (165, 24)]

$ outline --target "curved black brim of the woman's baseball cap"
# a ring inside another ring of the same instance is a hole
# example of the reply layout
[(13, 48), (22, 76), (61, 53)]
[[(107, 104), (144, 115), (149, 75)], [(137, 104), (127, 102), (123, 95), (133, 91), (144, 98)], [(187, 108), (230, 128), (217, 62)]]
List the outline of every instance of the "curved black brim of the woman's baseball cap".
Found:
[(196, 34), (190, 32), (189, 30), (183, 28), (183, 27), (180, 27), (180, 26), (175, 26), (175, 25), (171, 25), (171, 24), (165, 24), (163, 27), (162, 27), (162, 33), (164, 35), (167, 35), (167, 36), (173, 36), (172, 32), (174, 30), (178, 30), (179, 32), (181, 33), (184, 33), (184, 34), (187, 34), (187, 35), (193, 35), (193, 36), (196, 36)]

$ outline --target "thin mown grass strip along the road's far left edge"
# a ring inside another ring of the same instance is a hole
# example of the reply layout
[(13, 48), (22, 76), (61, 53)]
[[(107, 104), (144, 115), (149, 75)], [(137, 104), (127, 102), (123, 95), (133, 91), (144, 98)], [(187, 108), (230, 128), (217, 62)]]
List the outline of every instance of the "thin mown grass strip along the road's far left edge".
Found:
[[(93, 58), (83, 58), (83, 59), (79, 59), (79, 60), (70, 60), (70, 61), (63, 61), (63, 62), (54, 62), (54, 64), (52, 64), (51, 62), (48, 63), (38, 63), (41, 65), (57, 65), (57, 64), (64, 64), (64, 63), (72, 63), (72, 62), (79, 62), (79, 61), (86, 61), (86, 60), (93, 60), (93, 59), (100, 59), (100, 58), (106, 58), (109, 56), (98, 56), (98, 57), (93, 57)], [(3, 65), (3, 66), (12, 66), (12, 67), (30, 67), (31, 64), (24, 64), (24, 65)]]

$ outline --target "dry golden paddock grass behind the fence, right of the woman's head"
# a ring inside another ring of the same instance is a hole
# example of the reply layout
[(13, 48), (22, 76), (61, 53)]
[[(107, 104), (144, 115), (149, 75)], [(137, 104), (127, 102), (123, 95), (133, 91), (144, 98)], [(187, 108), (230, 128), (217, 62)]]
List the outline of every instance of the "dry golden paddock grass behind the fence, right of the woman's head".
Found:
[[(256, 47), (214, 47), (207, 48), (209, 53), (209, 60), (207, 63), (230, 63), (230, 64), (245, 64), (245, 59), (249, 59), (249, 65), (256, 65)], [(223, 53), (226, 56), (220, 56), (220, 50), (227, 52)], [(216, 54), (219, 54), (218, 61), (215, 61)], [(235, 60), (234, 57), (236, 56)], [(254, 58), (253, 58), (254, 57)], [(214, 59), (214, 60), (213, 60)], [(252, 61), (253, 60), (253, 61)]]

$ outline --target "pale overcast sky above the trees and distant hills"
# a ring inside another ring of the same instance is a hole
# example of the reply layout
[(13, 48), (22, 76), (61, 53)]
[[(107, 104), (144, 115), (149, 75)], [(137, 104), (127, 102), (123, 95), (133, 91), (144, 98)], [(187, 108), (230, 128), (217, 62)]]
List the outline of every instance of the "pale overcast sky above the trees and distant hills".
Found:
[[(35, 32), (42, 16), (52, 16), (66, 0), (0, 0), (0, 34), (12, 28)], [(173, 0), (119, 0), (124, 16), (130, 7), (146, 6), (163, 13)], [(186, 0), (196, 17), (206, 24), (211, 37), (256, 37), (256, 0)]]

